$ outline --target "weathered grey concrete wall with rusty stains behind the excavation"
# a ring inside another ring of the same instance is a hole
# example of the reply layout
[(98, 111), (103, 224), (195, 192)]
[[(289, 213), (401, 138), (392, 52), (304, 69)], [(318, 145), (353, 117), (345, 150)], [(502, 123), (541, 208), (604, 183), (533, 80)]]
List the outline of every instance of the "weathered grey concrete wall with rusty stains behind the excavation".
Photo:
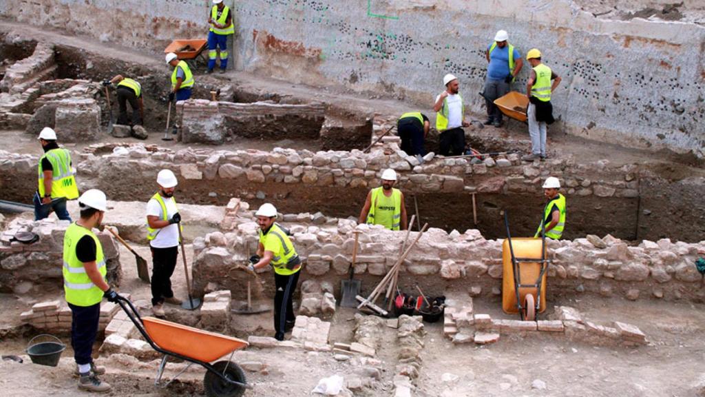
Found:
[[(161, 0), (0, 0), (0, 14), (161, 51), (173, 37), (205, 35), (205, 4)], [(121, 11), (129, 10), (129, 11)], [(239, 69), (317, 85), (386, 90), (430, 105), (441, 76), (481, 112), (484, 49), (500, 28), (522, 54), (541, 49), (563, 76), (554, 96), (565, 131), (625, 146), (703, 154), (705, 28), (678, 21), (610, 20), (569, 0), (238, 1)], [(111, 23), (106, 23), (111, 21)], [(129, 22), (128, 22), (129, 21)], [(129, 26), (128, 26), (129, 23)], [(434, 28), (429, 29), (429, 26)], [(528, 68), (515, 89), (521, 89)], [(652, 76), (658, 76), (656, 78)], [(557, 126), (560, 128), (560, 126)]]

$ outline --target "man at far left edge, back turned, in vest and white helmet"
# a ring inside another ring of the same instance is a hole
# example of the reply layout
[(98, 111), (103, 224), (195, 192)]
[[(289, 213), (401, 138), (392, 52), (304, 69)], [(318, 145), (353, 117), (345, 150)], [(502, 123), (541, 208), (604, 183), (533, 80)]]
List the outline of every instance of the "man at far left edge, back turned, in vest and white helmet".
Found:
[(44, 127), (37, 137), (44, 155), (39, 158), (39, 181), (32, 197), (35, 204), (35, 220), (48, 218), (52, 211), (61, 220), (71, 221), (66, 210), (66, 201), (78, 198), (75, 170), (71, 163), (71, 153), (59, 148), (56, 131)]

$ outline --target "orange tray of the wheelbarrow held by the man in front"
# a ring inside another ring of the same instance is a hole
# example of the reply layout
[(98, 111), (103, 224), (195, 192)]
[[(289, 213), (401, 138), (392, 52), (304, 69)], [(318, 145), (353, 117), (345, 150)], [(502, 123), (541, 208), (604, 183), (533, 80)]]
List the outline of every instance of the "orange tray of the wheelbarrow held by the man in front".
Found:
[(155, 317), (142, 317), (142, 324), (160, 348), (201, 362), (213, 362), (249, 345), (245, 340)]

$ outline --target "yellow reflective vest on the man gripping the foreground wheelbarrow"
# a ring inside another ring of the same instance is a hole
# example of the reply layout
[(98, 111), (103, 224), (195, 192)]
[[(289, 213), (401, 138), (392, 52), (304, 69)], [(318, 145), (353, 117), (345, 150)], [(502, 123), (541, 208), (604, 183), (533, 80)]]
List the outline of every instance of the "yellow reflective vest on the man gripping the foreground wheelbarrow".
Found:
[(83, 262), (76, 256), (76, 246), (84, 236), (90, 236), (96, 247), (95, 261), (100, 275), (105, 279), (107, 268), (103, 247), (91, 230), (72, 223), (63, 235), (63, 290), (66, 302), (76, 306), (92, 306), (103, 300), (103, 291), (93, 284), (83, 267)]

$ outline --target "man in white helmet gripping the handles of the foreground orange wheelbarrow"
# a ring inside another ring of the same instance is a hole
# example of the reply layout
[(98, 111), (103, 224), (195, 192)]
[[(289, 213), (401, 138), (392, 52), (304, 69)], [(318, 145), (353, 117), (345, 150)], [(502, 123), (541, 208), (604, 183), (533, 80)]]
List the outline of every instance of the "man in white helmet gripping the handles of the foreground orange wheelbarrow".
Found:
[(106, 280), (107, 268), (100, 240), (93, 229), (101, 225), (107, 209), (105, 194), (98, 189), (78, 198), (80, 219), (63, 235), (63, 290), (71, 309), (71, 346), (79, 374), (78, 389), (109, 391), (111, 386), (98, 378), (104, 367), (94, 364), (93, 343), (98, 334), (100, 302), (106, 297), (117, 302), (117, 293)]

